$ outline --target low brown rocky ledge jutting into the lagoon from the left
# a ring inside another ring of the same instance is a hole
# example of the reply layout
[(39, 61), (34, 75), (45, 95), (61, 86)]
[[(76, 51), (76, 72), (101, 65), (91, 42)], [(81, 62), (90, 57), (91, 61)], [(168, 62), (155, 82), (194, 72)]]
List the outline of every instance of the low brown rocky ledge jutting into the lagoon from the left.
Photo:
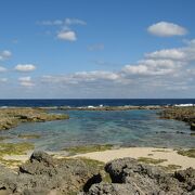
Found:
[(0, 130), (11, 129), (21, 122), (40, 122), (68, 118), (68, 115), (49, 114), (42, 108), (0, 108)]

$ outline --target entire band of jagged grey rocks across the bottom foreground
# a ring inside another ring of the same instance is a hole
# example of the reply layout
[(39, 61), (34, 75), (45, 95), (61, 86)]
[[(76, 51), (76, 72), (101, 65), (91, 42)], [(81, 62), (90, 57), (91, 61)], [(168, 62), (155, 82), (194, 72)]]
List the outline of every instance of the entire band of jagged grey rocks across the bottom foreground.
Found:
[(195, 194), (195, 169), (168, 173), (133, 158), (103, 165), (90, 159), (55, 159), (34, 152), (15, 172), (0, 168), (0, 194)]

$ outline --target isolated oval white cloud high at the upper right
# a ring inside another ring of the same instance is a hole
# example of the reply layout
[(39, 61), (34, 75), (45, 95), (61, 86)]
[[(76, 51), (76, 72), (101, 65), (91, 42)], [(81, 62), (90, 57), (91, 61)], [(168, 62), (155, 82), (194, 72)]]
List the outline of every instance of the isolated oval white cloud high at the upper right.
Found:
[(147, 28), (147, 31), (158, 37), (183, 36), (187, 34), (184, 27), (168, 22), (153, 24)]

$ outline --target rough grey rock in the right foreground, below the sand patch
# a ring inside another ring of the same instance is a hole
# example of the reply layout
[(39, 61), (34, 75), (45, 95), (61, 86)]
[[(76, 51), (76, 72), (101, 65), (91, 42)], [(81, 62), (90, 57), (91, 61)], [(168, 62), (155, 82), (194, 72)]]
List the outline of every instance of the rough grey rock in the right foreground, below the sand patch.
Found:
[(190, 168), (174, 174), (132, 158), (108, 162), (105, 170), (112, 182), (93, 184), (87, 195), (190, 195), (195, 194), (195, 170)]

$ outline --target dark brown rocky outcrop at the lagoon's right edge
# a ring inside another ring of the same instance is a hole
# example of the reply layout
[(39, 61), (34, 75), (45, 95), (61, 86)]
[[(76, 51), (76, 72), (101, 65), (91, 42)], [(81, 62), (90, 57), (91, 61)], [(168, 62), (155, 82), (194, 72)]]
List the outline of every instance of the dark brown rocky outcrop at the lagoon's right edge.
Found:
[(160, 118), (187, 122), (191, 126), (191, 130), (195, 131), (195, 106), (169, 107), (160, 113)]

